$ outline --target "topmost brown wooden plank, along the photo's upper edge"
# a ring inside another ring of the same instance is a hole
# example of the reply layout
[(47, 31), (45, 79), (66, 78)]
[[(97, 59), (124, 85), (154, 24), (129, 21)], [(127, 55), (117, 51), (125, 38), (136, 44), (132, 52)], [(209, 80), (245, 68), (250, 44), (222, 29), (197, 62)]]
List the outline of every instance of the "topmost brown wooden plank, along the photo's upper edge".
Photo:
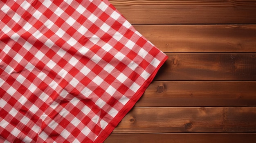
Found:
[(132, 24), (255, 24), (255, 0), (110, 0)]

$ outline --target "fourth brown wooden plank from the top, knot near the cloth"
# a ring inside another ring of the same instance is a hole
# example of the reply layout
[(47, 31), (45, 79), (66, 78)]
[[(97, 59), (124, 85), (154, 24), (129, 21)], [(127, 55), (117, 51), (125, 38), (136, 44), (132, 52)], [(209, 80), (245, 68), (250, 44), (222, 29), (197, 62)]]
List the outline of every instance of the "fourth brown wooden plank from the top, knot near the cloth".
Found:
[(153, 81), (135, 106), (256, 106), (256, 81)]

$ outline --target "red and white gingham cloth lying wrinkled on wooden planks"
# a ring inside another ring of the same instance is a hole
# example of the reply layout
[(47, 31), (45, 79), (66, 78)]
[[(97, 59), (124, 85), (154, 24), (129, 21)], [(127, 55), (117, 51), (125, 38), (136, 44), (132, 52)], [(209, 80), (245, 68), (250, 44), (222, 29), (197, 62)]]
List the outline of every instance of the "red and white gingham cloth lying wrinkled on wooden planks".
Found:
[(2, 0), (0, 142), (102, 143), (166, 59), (107, 0)]

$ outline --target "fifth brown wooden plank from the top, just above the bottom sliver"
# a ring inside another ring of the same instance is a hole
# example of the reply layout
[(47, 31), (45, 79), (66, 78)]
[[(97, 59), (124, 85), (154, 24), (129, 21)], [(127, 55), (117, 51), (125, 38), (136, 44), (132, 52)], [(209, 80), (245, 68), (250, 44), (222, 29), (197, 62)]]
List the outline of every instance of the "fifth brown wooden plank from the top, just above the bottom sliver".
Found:
[(133, 108), (113, 133), (256, 132), (256, 107)]

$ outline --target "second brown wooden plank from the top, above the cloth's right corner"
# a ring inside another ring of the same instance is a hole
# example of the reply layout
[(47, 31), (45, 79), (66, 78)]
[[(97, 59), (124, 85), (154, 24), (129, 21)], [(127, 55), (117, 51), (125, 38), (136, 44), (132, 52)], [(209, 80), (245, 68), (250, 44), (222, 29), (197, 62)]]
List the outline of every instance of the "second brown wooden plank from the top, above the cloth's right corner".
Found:
[(164, 52), (256, 52), (256, 25), (134, 25)]

